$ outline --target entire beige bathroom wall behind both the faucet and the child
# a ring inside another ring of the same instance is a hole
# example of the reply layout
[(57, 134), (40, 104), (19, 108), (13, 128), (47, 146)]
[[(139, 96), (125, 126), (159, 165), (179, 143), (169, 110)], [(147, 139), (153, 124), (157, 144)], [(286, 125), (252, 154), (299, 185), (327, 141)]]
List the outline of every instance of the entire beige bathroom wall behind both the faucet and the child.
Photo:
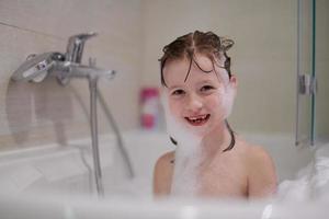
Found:
[[(329, 7), (326, 0), (317, 2), (325, 10), (318, 24), (320, 84), (328, 82)], [(10, 77), (27, 55), (64, 53), (69, 36), (90, 31), (99, 36), (86, 43), (82, 62), (93, 57), (98, 67), (117, 71), (114, 80), (100, 82), (100, 90), (122, 130), (139, 128), (140, 89), (160, 85), (162, 47), (200, 30), (236, 42), (229, 50), (239, 82), (229, 118), (232, 128), (294, 135), (297, 10), (297, 0), (1, 0), (0, 148), (66, 145), (68, 139), (89, 138), (87, 81), (71, 80), (63, 88), (52, 78), (36, 84), (13, 83)], [(306, 42), (309, 33), (305, 30)], [(305, 49), (308, 60), (309, 47)], [(321, 99), (328, 93), (319, 89)], [(318, 129), (326, 132), (329, 106), (326, 101), (319, 103)], [(308, 118), (309, 111), (304, 114)], [(111, 132), (101, 110), (99, 118), (100, 132)], [(163, 129), (163, 120), (160, 127)]]

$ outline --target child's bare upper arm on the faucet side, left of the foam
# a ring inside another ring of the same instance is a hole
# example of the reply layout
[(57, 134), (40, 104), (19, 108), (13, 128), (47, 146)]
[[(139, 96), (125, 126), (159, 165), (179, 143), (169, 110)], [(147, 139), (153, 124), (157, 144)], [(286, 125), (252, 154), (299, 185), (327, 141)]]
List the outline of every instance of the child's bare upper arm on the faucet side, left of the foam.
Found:
[(170, 151), (162, 154), (156, 162), (154, 171), (154, 194), (157, 196), (170, 193), (173, 159), (174, 151)]

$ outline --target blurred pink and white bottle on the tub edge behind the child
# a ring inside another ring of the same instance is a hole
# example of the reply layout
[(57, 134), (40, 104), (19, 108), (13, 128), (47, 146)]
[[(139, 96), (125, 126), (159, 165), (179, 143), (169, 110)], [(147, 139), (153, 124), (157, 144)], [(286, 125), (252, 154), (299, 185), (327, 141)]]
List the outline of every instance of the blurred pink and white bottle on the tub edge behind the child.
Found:
[(159, 90), (157, 88), (144, 88), (140, 91), (141, 102), (141, 128), (155, 129), (159, 114)]

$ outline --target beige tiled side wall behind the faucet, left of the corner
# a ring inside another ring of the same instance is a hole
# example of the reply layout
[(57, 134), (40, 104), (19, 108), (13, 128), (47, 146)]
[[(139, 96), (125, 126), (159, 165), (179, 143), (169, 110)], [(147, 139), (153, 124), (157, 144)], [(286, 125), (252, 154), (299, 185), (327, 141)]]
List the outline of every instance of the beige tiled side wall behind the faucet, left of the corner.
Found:
[[(0, 1), (0, 150), (42, 146), (89, 137), (89, 91), (83, 80), (63, 88), (53, 78), (42, 83), (14, 83), (12, 72), (29, 54), (66, 50), (72, 34), (95, 31), (83, 61), (114, 69), (102, 91), (121, 129), (138, 126), (141, 69), (140, 2), (121, 0)], [(100, 107), (99, 107), (100, 108)], [(99, 111), (100, 132), (112, 131)]]

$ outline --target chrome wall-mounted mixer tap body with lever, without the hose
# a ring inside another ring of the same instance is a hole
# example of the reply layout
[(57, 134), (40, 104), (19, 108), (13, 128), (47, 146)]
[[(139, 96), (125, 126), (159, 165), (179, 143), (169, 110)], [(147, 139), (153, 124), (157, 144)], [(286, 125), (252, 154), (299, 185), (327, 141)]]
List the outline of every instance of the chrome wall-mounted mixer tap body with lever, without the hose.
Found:
[(61, 85), (66, 85), (70, 78), (95, 79), (105, 77), (111, 79), (115, 73), (113, 70), (81, 65), (84, 43), (93, 36), (97, 36), (97, 33), (70, 36), (66, 54), (50, 51), (30, 56), (31, 58), (14, 71), (11, 79), (41, 82), (50, 74), (55, 76)]

